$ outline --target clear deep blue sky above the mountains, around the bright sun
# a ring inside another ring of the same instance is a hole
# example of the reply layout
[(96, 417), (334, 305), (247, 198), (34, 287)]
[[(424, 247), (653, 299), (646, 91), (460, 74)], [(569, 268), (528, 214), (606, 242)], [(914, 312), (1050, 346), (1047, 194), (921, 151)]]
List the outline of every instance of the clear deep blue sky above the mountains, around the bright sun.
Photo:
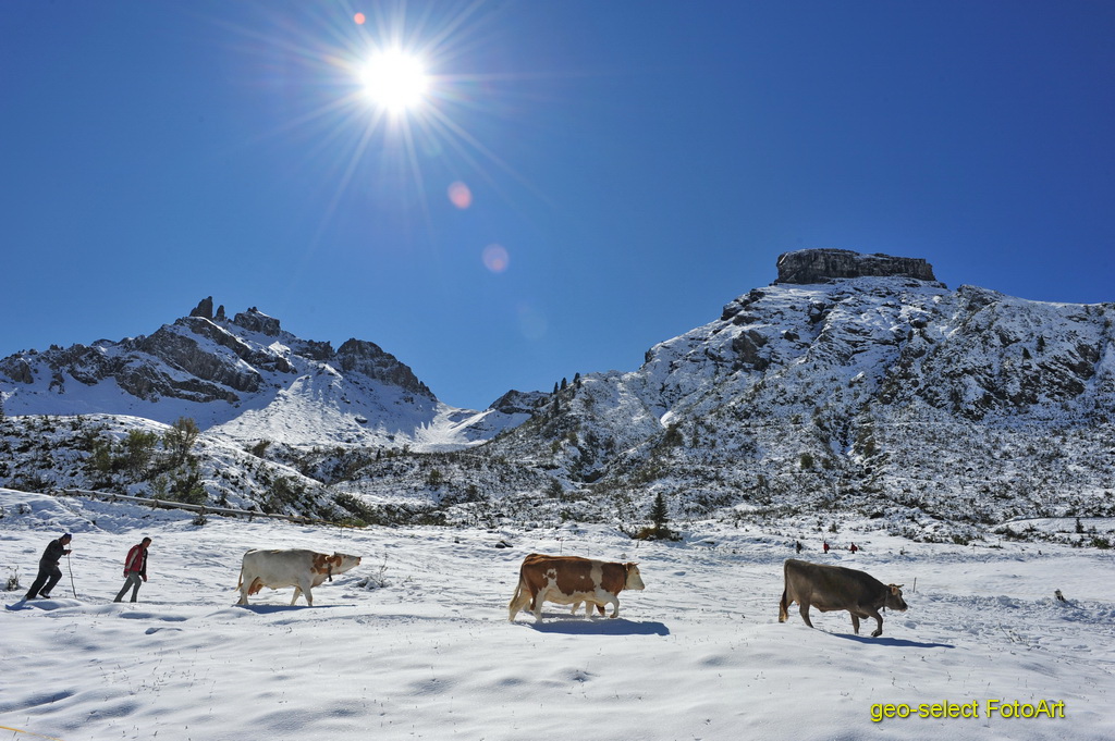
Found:
[[(1113, 38), (1105, 0), (8, 2), (0, 357), (212, 295), (484, 408), (634, 370), (788, 250), (1115, 301)], [(430, 87), (385, 116), (392, 40)]]

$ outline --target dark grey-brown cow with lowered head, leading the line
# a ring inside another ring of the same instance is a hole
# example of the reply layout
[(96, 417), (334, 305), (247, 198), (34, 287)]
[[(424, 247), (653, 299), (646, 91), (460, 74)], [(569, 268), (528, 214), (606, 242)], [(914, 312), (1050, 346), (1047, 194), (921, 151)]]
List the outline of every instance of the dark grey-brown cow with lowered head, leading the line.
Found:
[(860, 618), (874, 617), (879, 626), (872, 637), (883, 634), (883, 618), (880, 607), (905, 612), (901, 584), (883, 584), (874, 576), (854, 568), (811, 564), (796, 558), (786, 559), (783, 567), (785, 587), (778, 603), (778, 622), (785, 623), (789, 605), (801, 605), (802, 620), (809, 627), (809, 607), (823, 613), (846, 610), (852, 615), (852, 627), (860, 634)]

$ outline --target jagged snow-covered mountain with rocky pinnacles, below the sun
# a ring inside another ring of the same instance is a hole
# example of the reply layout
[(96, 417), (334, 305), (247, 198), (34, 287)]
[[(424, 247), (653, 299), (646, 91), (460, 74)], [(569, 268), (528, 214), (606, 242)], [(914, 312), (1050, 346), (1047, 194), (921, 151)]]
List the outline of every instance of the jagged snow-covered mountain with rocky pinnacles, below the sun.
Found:
[(293, 448), (453, 449), (529, 417), (507, 397), (483, 411), (449, 407), (372, 342), (333, 350), (254, 308), (214, 313), (212, 298), (148, 337), (0, 360), (0, 394), (9, 416), (188, 417), (214, 439)]

